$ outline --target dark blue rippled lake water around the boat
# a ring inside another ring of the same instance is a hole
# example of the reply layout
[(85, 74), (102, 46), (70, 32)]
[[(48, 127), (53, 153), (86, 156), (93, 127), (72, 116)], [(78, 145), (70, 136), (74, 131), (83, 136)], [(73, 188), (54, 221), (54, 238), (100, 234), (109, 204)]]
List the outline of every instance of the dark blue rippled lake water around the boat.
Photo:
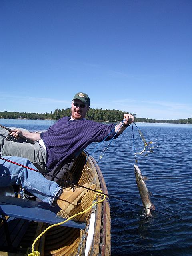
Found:
[[(54, 121), (0, 120), (4, 126), (46, 130)], [(158, 212), (146, 217), (139, 206), (110, 198), (112, 256), (191, 256), (192, 255), (192, 125), (136, 123), (154, 152), (137, 155), (143, 176)], [(128, 127), (113, 140), (99, 162), (108, 194), (142, 205), (134, 175), (134, 146), (141, 152), (144, 143), (138, 129)], [(109, 144), (91, 144), (87, 150), (98, 160)], [(156, 147), (158, 146), (158, 148)], [(166, 216), (159, 212), (166, 213)]]

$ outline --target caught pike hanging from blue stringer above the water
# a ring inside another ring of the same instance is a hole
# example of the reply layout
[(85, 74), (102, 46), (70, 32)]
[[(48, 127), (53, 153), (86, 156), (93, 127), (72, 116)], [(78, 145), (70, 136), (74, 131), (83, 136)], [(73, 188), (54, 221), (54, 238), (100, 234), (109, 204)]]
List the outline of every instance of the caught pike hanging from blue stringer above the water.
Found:
[(142, 173), (136, 164), (134, 165), (134, 167), (135, 167), (135, 179), (136, 179), (136, 183), (138, 186), (138, 190), (141, 196), (143, 206), (146, 208), (147, 215), (151, 215), (150, 209), (155, 210), (155, 206), (150, 201), (149, 191), (145, 182), (147, 178), (142, 176)]

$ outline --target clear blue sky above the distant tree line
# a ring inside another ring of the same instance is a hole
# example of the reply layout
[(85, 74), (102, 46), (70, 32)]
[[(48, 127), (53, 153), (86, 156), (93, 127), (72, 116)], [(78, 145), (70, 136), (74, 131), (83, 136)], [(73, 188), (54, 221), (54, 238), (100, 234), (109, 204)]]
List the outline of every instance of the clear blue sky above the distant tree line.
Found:
[(192, 117), (191, 0), (1, 0), (0, 111)]

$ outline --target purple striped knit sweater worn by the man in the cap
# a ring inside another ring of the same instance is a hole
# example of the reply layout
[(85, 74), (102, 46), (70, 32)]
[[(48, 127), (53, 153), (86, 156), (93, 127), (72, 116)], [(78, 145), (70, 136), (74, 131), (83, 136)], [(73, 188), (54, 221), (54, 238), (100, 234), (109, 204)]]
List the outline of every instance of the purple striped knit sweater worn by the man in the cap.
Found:
[[(101, 142), (114, 128), (115, 124), (99, 124), (86, 119), (70, 120), (67, 116), (61, 118), (40, 134), (46, 145), (47, 168), (52, 170), (70, 156), (78, 155), (91, 142)], [(114, 134), (115, 131), (106, 140), (110, 140)]]

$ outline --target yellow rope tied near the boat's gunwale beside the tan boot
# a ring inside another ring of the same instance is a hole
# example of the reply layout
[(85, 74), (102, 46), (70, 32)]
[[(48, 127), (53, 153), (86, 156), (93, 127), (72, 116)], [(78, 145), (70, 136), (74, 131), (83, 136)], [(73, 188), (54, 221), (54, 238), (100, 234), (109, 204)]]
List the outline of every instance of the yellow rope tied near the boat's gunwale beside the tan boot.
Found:
[(94, 195), (94, 200), (96, 199), (96, 196), (99, 196), (99, 195), (100, 195), (101, 197), (103, 196), (103, 199), (102, 199), (102, 200), (97, 201), (97, 202), (94, 202), (88, 209), (84, 210), (83, 212), (76, 213), (76, 214), (74, 214), (73, 216), (71, 216), (70, 218), (68, 218), (67, 220), (64, 220), (64, 221), (62, 221), (62, 222), (60, 222), (60, 223), (53, 224), (53, 225), (49, 226), (48, 228), (46, 228), (46, 229), (34, 240), (34, 242), (33, 242), (33, 244), (32, 244), (32, 253), (28, 254), (28, 256), (40, 256), (39, 251), (34, 251), (35, 243), (36, 243), (37, 240), (38, 240), (40, 237), (42, 237), (50, 228), (55, 227), (55, 226), (62, 225), (62, 224), (64, 224), (64, 223), (66, 223), (67, 221), (71, 220), (72, 218), (74, 218), (74, 217), (76, 217), (76, 216), (78, 216), (78, 215), (80, 215), (80, 214), (83, 214), (83, 213), (87, 212), (87, 211), (90, 210), (95, 204), (102, 203), (102, 202), (105, 200), (106, 196), (103, 195), (103, 194), (101, 194), (101, 193), (102, 193), (102, 190), (96, 189), (95, 191), (97, 191), (98, 193), (96, 193), (96, 194)]

